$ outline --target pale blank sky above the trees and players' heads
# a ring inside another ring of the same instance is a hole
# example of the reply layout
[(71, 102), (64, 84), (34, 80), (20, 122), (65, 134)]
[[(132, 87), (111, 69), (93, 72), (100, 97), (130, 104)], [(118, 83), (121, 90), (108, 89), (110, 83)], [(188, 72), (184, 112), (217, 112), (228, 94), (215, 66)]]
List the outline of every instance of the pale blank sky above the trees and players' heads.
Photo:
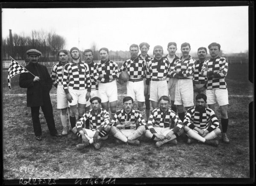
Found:
[[(169, 42), (187, 42), (191, 52), (212, 42), (224, 53), (248, 50), (248, 6), (2, 9), (2, 37), (29, 35), (32, 30), (54, 31), (66, 38), (65, 49), (90, 48), (128, 51), (131, 44), (147, 42), (167, 53)], [(79, 42), (80, 41), (80, 42)]]

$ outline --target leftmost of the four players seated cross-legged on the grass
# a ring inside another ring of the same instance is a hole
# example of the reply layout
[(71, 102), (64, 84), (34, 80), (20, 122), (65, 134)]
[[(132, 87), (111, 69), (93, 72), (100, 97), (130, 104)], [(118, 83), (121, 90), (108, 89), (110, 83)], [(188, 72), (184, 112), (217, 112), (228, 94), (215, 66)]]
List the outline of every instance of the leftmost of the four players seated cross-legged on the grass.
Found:
[[(92, 144), (94, 148), (99, 149), (100, 143), (98, 139), (107, 139), (110, 131), (109, 126), (109, 113), (100, 108), (101, 99), (99, 97), (93, 97), (90, 99), (92, 109), (84, 113), (83, 117), (76, 123), (76, 127), (73, 128), (73, 133), (76, 136), (83, 139), (81, 144), (76, 145), (78, 150)], [(82, 125), (89, 119), (89, 129), (83, 128)]]

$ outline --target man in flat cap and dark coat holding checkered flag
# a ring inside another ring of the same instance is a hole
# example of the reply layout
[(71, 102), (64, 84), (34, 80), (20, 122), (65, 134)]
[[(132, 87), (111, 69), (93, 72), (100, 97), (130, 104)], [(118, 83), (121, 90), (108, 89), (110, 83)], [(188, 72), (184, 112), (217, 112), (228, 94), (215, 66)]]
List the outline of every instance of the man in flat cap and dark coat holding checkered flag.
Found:
[(48, 73), (47, 67), (38, 64), (38, 57), (41, 55), (41, 52), (36, 49), (30, 49), (26, 54), (29, 58), (29, 64), (26, 65), (25, 68), (29, 73), (20, 74), (19, 84), (21, 88), (27, 88), (27, 107), (31, 108), (36, 140), (42, 140), (42, 129), (39, 119), (40, 106), (44, 113), (50, 135), (61, 137), (61, 134), (58, 134), (55, 128), (52, 103), (49, 94), (52, 89), (52, 79)]

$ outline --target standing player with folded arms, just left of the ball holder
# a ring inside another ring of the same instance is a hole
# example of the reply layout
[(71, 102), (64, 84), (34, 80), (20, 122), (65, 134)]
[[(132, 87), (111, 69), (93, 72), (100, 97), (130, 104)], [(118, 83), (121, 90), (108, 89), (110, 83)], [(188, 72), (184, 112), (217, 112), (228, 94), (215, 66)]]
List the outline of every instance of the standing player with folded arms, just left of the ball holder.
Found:
[(119, 77), (118, 65), (116, 62), (109, 60), (107, 48), (99, 49), (100, 61), (94, 69), (94, 79), (99, 82), (99, 98), (102, 100), (102, 108), (109, 110), (110, 105), (111, 117), (116, 113), (117, 105), (117, 86), (116, 79)]

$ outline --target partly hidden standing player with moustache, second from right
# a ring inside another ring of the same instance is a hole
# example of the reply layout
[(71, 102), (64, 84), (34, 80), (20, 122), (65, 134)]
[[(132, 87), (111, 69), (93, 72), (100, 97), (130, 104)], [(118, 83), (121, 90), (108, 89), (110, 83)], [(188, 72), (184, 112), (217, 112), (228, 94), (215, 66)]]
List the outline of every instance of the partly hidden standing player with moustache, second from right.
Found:
[[(206, 83), (207, 77), (201, 75), (202, 67), (204, 65), (204, 61), (206, 61), (207, 49), (205, 47), (198, 48), (198, 58), (199, 60), (195, 62), (195, 71), (193, 77), (193, 85), (194, 85), (194, 101), (195, 96), (200, 93), (206, 94)], [(196, 105), (196, 102), (194, 102)]]

